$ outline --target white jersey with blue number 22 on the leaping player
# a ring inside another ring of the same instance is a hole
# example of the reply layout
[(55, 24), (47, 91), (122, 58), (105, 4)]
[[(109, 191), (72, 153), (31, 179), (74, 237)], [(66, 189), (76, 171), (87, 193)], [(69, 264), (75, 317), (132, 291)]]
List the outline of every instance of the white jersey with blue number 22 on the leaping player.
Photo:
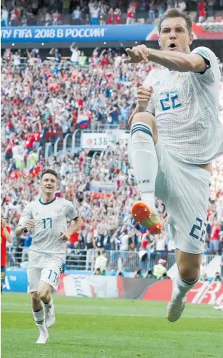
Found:
[(204, 73), (156, 68), (143, 86), (152, 86), (147, 111), (155, 115), (160, 138), (185, 163), (204, 164), (223, 154), (223, 126), (219, 121), (220, 71), (206, 47), (192, 51), (207, 63)]

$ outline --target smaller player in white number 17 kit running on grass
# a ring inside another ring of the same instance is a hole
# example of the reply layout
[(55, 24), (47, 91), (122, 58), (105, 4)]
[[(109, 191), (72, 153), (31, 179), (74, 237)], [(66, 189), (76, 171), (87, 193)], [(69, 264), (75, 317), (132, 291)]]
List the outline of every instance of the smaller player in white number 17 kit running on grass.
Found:
[[(27, 275), (33, 317), (40, 332), (36, 343), (40, 344), (46, 343), (47, 327), (55, 322), (51, 292), (58, 286), (66, 258), (66, 242), (83, 225), (71, 202), (55, 196), (56, 188), (57, 173), (44, 170), (41, 173), (41, 199), (26, 205), (16, 228), (16, 236), (26, 229), (33, 229)], [(67, 219), (72, 220), (70, 227), (67, 227)]]

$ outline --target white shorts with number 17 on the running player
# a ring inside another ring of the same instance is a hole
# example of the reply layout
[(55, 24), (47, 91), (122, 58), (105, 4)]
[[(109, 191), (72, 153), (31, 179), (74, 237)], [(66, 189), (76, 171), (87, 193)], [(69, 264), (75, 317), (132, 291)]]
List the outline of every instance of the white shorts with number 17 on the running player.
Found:
[(38, 291), (41, 281), (51, 285), (53, 290), (57, 290), (63, 262), (55, 257), (48, 256), (48, 259), (42, 260), (41, 263), (41, 267), (38, 267), (33, 260), (28, 263), (28, 292)]

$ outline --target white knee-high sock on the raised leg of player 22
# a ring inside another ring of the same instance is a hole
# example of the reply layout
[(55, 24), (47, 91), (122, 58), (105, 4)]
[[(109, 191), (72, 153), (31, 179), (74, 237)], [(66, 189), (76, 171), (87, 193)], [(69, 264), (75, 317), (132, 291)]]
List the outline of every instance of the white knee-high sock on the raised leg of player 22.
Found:
[(141, 200), (155, 209), (155, 179), (158, 170), (152, 128), (143, 122), (133, 124), (131, 130), (131, 157)]

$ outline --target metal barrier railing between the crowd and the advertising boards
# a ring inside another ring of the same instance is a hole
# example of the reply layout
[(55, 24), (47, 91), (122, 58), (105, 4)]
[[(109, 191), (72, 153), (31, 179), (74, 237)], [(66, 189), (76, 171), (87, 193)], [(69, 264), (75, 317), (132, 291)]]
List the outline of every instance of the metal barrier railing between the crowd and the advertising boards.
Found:
[[(28, 262), (28, 247), (7, 247), (7, 265), (11, 268), (26, 267)], [(66, 252), (66, 270), (94, 270), (95, 259), (101, 255), (102, 250), (79, 250), (68, 248)], [(169, 270), (175, 265), (175, 253), (165, 251), (147, 252), (141, 257), (140, 251), (106, 250), (108, 265), (106, 270), (115, 272), (135, 272), (138, 268), (143, 272), (152, 269), (160, 258), (166, 260), (165, 265)], [(214, 258), (214, 255), (203, 255), (206, 265)]]

